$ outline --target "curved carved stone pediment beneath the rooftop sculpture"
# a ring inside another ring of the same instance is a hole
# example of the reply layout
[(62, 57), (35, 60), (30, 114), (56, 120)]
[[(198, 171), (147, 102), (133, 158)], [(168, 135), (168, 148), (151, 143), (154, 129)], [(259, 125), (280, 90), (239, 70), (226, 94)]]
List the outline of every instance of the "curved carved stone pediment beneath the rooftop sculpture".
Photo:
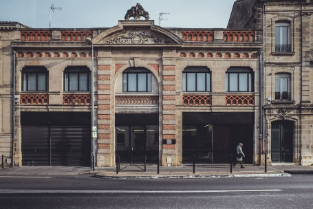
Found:
[(119, 21), (118, 26), (105, 30), (93, 40), (96, 45), (175, 45), (178, 36), (154, 25), (154, 21)]

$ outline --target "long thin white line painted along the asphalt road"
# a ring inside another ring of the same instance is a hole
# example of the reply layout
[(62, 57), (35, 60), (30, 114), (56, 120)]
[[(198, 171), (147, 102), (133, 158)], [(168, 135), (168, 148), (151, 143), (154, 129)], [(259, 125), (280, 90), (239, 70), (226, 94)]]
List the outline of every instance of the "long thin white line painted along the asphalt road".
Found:
[(263, 190), (23, 190), (23, 189), (0, 189), (0, 194), (34, 194), (34, 193), (213, 193), (213, 192), (279, 192), (280, 189)]

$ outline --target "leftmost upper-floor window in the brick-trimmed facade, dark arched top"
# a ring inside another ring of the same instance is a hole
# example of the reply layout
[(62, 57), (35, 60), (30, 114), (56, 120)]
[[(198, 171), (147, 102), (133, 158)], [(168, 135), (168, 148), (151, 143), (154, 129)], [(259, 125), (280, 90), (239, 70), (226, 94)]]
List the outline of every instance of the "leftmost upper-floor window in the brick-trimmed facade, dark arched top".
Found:
[(22, 91), (48, 91), (48, 71), (43, 66), (22, 69)]

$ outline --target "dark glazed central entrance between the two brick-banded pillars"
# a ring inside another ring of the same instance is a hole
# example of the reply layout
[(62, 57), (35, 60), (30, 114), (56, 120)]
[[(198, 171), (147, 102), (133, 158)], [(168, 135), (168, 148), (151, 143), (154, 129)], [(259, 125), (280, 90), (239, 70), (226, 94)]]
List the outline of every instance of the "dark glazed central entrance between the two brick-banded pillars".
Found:
[(116, 155), (122, 164), (157, 163), (158, 114), (116, 114)]

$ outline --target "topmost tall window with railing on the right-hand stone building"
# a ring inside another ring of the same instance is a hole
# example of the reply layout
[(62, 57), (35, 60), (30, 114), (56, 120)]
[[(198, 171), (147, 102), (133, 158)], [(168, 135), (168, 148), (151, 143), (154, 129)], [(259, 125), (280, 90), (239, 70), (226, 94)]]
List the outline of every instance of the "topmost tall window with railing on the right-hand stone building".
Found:
[(291, 52), (290, 23), (275, 23), (275, 52)]

